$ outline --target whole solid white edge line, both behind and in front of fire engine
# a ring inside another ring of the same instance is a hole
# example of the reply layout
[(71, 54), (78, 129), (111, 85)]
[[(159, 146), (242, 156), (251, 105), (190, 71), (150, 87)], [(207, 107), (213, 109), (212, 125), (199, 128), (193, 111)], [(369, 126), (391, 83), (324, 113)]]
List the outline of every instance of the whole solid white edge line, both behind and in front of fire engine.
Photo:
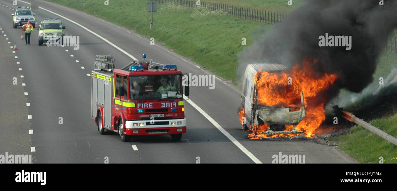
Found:
[[(23, 0), (19, 0), (20, 2), (24, 2), (26, 4), (30, 4), (28, 2), (25, 2)], [(75, 25), (85, 29), (88, 32), (91, 32), (91, 34), (94, 34), (95, 36), (97, 36), (98, 38), (104, 40), (105, 42), (107, 42), (108, 44), (110, 44), (111, 46), (113, 46), (114, 48), (118, 49), (120, 52), (124, 53), (125, 55), (127, 55), (128, 57), (134, 59), (134, 60), (138, 60), (136, 59), (133, 55), (129, 54), (128, 52), (126, 52), (125, 50), (121, 49), (120, 47), (116, 46), (115, 44), (113, 44), (112, 42), (110, 42), (109, 40), (107, 40), (106, 38), (100, 36), (99, 34), (96, 34), (95, 32), (91, 31), (90, 29), (88, 29), (87, 27), (84, 27), (83, 25), (76, 23), (75, 21), (72, 21), (71, 19), (68, 19), (58, 13), (55, 13), (53, 11), (47, 10), (45, 8), (39, 7), (42, 10), (48, 11), (54, 15), (57, 15), (59, 17), (62, 17), (64, 19), (66, 19), (67, 21), (70, 21), (71, 23), (74, 23)], [(183, 61), (185, 61), (183, 59)], [(186, 96), (184, 96), (185, 99), (187, 99)], [(259, 159), (257, 159), (254, 155), (252, 155), (252, 153), (250, 151), (248, 151), (243, 145), (241, 145), (241, 143), (239, 143), (239, 141), (237, 141), (235, 138), (233, 138), (233, 136), (231, 136), (226, 130), (224, 130), (224, 128), (222, 128), (212, 117), (210, 117), (207, 113), (204, 112), (204, 110), (202, 110), (200, 107), (198, 107), (198, 105), (196, 105), (191, 99), (187, 100), (188, 103), (190, 103), (195, 109), (197, 109), (197, 111), (199, 111), (202, 115), (204, 115), (204, 117), (206, 117), (212, 124), (214, 124), (214, 126), (216, 128), (218, 128), (218, 130), (220, 130), (220, 132), (222, 132), (227, 138), (229, 138), (237, 147), (239, 147), (239, 149), (241, 151), (243, 151), (243, 153), (245, 153), (251, 160), (253, 160), (255, 163), (262, 163), (260, 162)], [(133, 145), (134, 146), (134, 145)]]

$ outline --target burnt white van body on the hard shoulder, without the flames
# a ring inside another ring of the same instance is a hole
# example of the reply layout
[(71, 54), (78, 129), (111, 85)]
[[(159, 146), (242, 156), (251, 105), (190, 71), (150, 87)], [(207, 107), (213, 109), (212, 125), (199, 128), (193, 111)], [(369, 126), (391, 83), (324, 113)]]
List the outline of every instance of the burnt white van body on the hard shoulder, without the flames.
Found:
[[(303, 131), (295, 130), (295, 125), (299, 124), (306, 117), (302, 90), (300, 91), (300, 107), (296, 107), (296, 105), (263, 105), (258, 102), (258, 96), (256, 96), (257, 87), (255, 78), (259, 78), (258, 72), (280, 73), (285, 69), (287, 67), (281, 64), (262, 63), (247, 65), (241, 95), (242, 111), (240, 111), (240, 115), (245, 117), (242, 123), (244, 130), (252, 129), (254, 125), (260, 126), (267, 124), (267, 130), (261, 133), (263, 135), (303, 133)], [(287, 86), (287, 82), (285, 82), (285, 86)], [(286, 125), (292, 125), (293, 128), (287, 130)]]

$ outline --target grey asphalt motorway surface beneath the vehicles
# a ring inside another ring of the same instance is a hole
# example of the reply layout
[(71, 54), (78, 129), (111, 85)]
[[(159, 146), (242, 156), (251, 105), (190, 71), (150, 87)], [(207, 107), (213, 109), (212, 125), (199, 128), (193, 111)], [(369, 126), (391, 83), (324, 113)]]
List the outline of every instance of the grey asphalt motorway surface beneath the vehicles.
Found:
[[(153, 58), (156, 62), (176, 64), (183, 73), (210, 74), (162, 46), (150, 45), (148, 39), (133, 31), (42, 0), (28, 2), (37, 2), (40, 7), (87, 27), (138, 59), (146, 53), (149, 59)], [(93, 69), (94, 56), (114, 54), (116, 68), (131, 62), (131, 58), (98, 36), (62, 18), (66, 35), (80, 36), (79, 50), (73, 50), (73, 47), (38, 46), (37, 29), (32, 33), (31, 44), (25, 45), (24, 40), (20, 40), (21, 27), (13, 29), (11, 25), (11, 14), (16, 6), (12, 5), (12, 1), (0, 0), (0, 3), (0, 28), (4, 31), (0, 38), (9, 38), (8, 42), (12, 44), (17, 42), (18, 50), (12, 53), (10, 45), (4, 39), (0, 40), (0, 46), (9, 48), (7, 55), (18, 56), (16, 60), (22, 68), (18, 72), (24, 76), (24, 92), (28, 92), (24, 98), (18, 95), (15, 99), (31, 105), (27, 110), (28, 115), (32, 116), (29, 122), (34, 134), (30, 135), (31, 145), (28, 146), (35, 147), (35, 152), (32, 152), (33, 163), (104, 163), (106, 157), (109, 163), (195, 163), (197, 157), (200, 157), (201, 163), (254, 163), (247, 152), (244, 153), (188, 102), (185, 102), (187, 133), (183, 134), (179, 142), (173, 142), (170, 136), (139, 137), (131, 142), (122, 142), (117, 134), (100, 135), (90, 118), (91, 78), (87, 74)], [(18, 1), (18, 6), (25, 5), (27, 4)], [(59, 17), (42, 9), (33, 12), (37, 13), (35, 17), (38, 23), (43, 17)], [(156, 39), (155, 36), (154, 38)], [(12, 65), (9, 63), (12, 61), (3, 62), (4, 56), (1, 55), (2, 64)], [(6, 70), (11, 72), (13, 69), (7, 67)], [(1, 79), (4, 81), (3, 76)], [(5, 86), (2, 86), (2, 90), (10, 91)], [(218, 79), (214, 90), (209, 90), (208, 87), (190, 89), (191, 101), (262, 163), (271, 163), (272, 155), (279, 152), (287, 155), (304, 154), (306, 163), (357, 162), (335, 147), (306, 139), (247, 139), (248, 132), (239, 130), (241, 127), (237, 108), (241, 101), (240, 95), (241, 92), (235, 86)], [(5, 98), (2, 97), (2, 101), (3, 99)], [(16, 114), (26, 116), (22, 111)], [(59, 124), (60, 117), (63, 124)], [(0, 119), (8, 120), (2, 116)], [(15, 128), (26, 128), (16, 122), (14, 124), (17, 126)], [(16, 134), (13, 136), (17, 138)], [(138, 150), (134, 151), (131, 145), (136, 145)]]

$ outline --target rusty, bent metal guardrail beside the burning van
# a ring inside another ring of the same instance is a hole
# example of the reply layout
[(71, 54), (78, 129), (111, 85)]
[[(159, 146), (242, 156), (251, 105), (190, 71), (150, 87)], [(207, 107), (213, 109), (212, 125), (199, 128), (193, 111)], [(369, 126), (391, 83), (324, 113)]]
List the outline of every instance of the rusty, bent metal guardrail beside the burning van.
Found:
[(386, 141), (389, 141), (390, 143), (393, 143), (394, 145), (397, 146), (397, 138), (387, 134), (386, 132), (380, 130), (379, 128), (365, 122), (364, 120), (356, 117), (355, 115), (353, 115), (350, 112), (344, 111), (344, 110), (338, 110), (336, 109), (332, 104), (328, 103), (325, 107), (325, 109), (333, 112), (333, 113), (337, 113), (337, 112), (341, 112), (341, 115), (343, 118), (354, 122), (355, 124), (358, 124), (360, 126), (362, 126), (363, 128), (365, 128), (366, 130), (373, 132), (374, 134), (380, 136), (381, 138), (385, 139)]

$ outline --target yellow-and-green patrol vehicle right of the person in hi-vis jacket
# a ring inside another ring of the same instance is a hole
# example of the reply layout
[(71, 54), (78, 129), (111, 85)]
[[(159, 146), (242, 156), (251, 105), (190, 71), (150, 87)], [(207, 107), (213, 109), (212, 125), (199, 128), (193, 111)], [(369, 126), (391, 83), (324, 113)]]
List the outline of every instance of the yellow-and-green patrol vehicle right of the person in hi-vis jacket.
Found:
[(52, 40), (54, 36), (62, 36), (62, 44), (65, 35), (65, 26), (59, 18), (43, 18), (39, 29), (39, 46), (48, 40)]

